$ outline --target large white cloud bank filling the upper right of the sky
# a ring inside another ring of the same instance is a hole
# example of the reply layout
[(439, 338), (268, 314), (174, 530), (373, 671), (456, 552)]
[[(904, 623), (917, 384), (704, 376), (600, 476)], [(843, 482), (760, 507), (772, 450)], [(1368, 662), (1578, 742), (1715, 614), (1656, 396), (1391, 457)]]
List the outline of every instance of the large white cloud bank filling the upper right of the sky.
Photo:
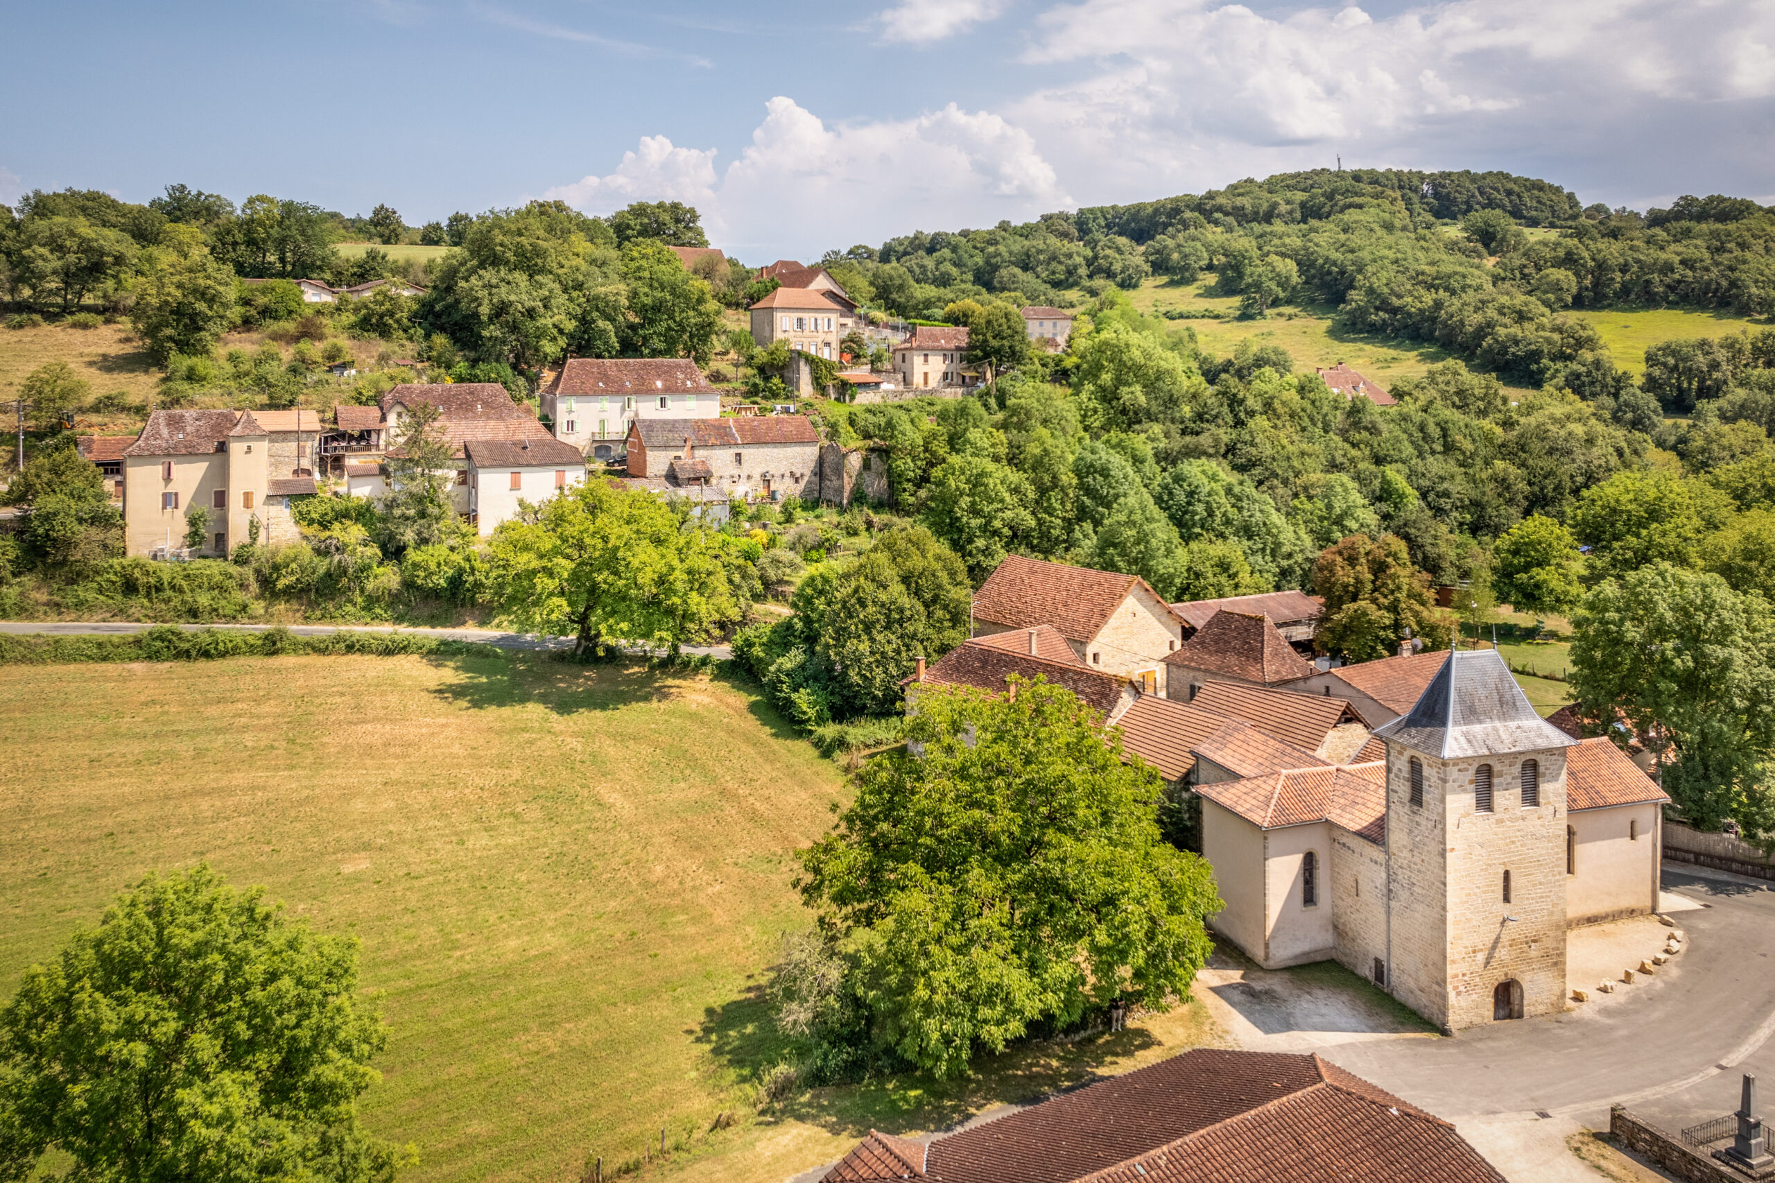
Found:
[(1384, 20), (1353, 5), (1273, 18), (1216, 0), (1077, 0), (1037, 20), (1024, 62), (1083, 73), (1005, 112), (1061, 176), (1090, 178), (1088, 199), (1138, 199), (1331, 163), (1338, 151), (1345, 163), (1408, 167), (1470, 162), (1489, 144), (1550, 155), (1557, 137), (1619, 123), (1638, 103), (1766, 99), (1771, 46), (1764, 0), (1683, 12), (1457, 0)]

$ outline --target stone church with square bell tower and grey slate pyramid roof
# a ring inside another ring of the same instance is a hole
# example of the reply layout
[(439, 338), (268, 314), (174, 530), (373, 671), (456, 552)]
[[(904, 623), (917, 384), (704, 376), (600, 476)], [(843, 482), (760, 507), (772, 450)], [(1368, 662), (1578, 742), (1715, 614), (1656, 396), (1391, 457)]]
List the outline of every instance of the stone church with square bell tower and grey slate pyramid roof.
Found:
[(1564, 1009), (1567, 929), (1658, 906), (1668, 798), (1535, 714), (1493, 650), (1452, 650), (1374, 739), (1384, 760), (1196, 785), (1214, 929), (1448, 1030)]

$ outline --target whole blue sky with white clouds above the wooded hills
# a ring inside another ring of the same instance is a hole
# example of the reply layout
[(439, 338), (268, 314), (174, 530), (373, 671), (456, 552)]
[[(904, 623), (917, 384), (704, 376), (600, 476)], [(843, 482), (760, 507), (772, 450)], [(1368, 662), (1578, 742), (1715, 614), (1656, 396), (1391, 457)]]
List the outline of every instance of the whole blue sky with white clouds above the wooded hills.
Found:
[(749, 263), (1329, 165), (1775, 201), (1768, 0), (0, 9), (0, 201), (676, 197)]

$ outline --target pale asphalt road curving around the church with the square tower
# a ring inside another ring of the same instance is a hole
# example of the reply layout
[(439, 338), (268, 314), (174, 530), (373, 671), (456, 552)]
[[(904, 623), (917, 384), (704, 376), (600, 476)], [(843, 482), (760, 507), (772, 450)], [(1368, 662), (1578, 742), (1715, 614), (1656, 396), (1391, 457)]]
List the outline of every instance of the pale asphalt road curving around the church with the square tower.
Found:
[(1741, 1073), (1775, 1071), (1775, 883), (1667, 867), (1663, 886), (1704, 908), (1672, 915), (1683, 954), (1628, 996), (1321, 1055), (1448, 1121), (1539, 1112), (1606, 1128), (1626, 1105), (1674, 1131), (1725, 1114)]

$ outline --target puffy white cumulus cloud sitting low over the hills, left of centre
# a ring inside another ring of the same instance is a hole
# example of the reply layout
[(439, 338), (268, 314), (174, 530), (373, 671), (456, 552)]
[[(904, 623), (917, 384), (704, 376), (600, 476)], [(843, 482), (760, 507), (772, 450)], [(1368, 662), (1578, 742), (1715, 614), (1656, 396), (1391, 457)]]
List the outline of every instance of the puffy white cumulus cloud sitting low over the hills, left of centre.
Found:
[(710, 242), (816, 256), (914, 227), (1028, 220), (1070, 204), (1028, 131), (955, 103), (914, 119), (827, 126), (788, 98), (765, 103), (753, 142), (719, 181), (715, 151), (646, 137), (609, 176), (547, 190), (591, 213), (630, 201), (687, 201)]

